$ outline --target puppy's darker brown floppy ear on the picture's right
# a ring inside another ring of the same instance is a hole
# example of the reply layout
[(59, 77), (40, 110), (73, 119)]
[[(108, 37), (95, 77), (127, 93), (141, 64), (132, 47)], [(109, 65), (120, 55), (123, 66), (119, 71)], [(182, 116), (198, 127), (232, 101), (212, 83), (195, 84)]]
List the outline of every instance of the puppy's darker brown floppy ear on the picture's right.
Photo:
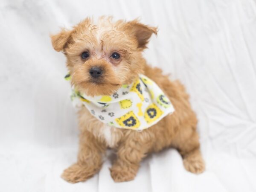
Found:
[(135, 35), (138, 41), (138, 48), (145, 49), (146, 44), (148, 44), (149, 38), (154, 33), (157, 35), (157, 27), (151, 27), (148, 25), (144, 25), (139, 22), (139, 20), (132, 20), (128, 22), (131, 27), (132, 35)]

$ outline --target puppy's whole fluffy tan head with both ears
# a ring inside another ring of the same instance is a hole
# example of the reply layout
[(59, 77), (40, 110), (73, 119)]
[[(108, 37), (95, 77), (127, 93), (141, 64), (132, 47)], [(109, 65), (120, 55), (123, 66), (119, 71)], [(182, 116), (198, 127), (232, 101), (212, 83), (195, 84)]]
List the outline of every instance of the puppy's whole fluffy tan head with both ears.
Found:
[(90, 96), (111, 95), (143, 72), (142, 51), (157, 28), (137, 20), (97, 23), (87, 18), (72, 30), (52, 35), (52, 46), (67, 57), (71, 82)]

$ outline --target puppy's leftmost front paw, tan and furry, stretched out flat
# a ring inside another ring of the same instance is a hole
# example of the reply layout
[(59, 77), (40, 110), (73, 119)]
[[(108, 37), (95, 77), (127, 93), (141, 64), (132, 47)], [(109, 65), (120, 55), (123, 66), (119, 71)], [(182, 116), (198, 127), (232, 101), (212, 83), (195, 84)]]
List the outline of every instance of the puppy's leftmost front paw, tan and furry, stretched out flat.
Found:
[(93, 171), (90, 167), (80, 166), (79, 164), (75, 163), (69, 168), (65, 169), (61, 177), (70, 183), (77, 183), (87, 180), (95, 173), (96, 172)]

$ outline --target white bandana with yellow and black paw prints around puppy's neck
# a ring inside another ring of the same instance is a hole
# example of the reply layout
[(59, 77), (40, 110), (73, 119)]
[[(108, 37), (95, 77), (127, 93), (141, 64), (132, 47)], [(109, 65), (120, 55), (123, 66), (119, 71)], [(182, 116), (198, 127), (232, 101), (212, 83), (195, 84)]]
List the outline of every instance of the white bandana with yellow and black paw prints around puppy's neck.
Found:
[[(70, 75), (65, 79), (69, 80)], [(84, 105), (101, 122), (116, 128), (141, 131), (159, 122), (175, 109), (158, 85), (144, 75), (123, 84), (111, 96), (87, 96), (72, 87), (71, 100)]]

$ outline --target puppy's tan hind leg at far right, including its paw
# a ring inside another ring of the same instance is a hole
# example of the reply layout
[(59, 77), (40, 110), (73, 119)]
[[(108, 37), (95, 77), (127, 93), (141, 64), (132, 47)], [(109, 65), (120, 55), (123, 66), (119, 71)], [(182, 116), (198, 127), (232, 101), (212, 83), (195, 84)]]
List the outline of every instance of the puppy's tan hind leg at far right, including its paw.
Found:
[(200, 152), (198, 133), (195, 128), (185, 129), (177, 134), (173, 144), (183, 157), (185, 169), (196, 174), (202, 173), (205, 165)]

